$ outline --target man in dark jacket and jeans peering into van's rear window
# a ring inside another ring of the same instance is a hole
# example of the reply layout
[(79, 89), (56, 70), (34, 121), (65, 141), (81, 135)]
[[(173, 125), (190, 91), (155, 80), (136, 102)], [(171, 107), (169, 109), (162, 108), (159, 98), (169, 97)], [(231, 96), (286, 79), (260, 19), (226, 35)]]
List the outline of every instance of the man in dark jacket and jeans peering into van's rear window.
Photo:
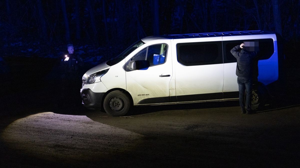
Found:
[[(251, 114), (251, 92), (252, 92), (252, 76), (253, 76), (253, 61), (256, 57), (256, 52), (247, 51), (244, 43), (237, 45), (231, 49), (231, 54), (236, 58), (236, 71), (238, 76), (238, 91), (239, 103), (242, 114)], [(244, 101), (246, 91), (246, 101)]]

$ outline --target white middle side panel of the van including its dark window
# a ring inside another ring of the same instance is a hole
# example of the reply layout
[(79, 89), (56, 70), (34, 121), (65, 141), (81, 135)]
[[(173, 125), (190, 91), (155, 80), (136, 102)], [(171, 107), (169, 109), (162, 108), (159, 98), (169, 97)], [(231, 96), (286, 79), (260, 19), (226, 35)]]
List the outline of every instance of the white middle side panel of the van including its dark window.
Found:
[(174, 39), (172, 47), (177, 50), (173, 59), (177, 102), (222, 99), (221, 37)]

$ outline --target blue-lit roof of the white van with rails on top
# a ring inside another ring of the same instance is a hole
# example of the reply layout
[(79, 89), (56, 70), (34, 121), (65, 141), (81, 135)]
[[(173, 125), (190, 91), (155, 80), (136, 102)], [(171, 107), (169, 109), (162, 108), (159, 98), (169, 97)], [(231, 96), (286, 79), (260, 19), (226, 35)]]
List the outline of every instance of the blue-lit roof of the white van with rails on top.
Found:
[(220, 36), (245, 36), (245, 35), (259, 35), (259, 34), (275, 34), (272, 31), (230, 31), (230, 32), (217, 32), (217, 33), (193, 33), (193, 34), (173, 34), (162, 36), (149, 36), (142, 39), (143, 42), (149, 42), (159, 39), (188, 39), (188, 38), (201, 38), (201, 37), (220, 37)]

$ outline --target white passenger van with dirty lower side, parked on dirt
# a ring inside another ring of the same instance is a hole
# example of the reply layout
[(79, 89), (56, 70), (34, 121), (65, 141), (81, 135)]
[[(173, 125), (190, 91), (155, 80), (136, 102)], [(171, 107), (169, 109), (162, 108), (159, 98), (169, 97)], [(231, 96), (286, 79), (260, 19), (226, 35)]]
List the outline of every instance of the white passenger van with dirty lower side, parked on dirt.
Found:
[(150, 36), (119, 56), (88, 70), (80, 94), (89, 109), (125, 115), (131, 106), (238, 100), (236, 59), (230, 50), (244, 41), (259, 42), (258, 82), (253, 108), (267, 86), (278, 80), (277, 36), (239, 31)]

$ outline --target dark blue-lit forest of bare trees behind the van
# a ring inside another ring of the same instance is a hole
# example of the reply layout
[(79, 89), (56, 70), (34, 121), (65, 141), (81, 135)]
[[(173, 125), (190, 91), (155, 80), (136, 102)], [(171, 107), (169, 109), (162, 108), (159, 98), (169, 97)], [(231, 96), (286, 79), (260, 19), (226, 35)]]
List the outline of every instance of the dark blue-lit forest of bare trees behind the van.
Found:
[(60, 58), (66, 44), (94, 64), (146, 36), (271, 30), (299, 59), (299, 0), (3, 0), (2, 57)]

